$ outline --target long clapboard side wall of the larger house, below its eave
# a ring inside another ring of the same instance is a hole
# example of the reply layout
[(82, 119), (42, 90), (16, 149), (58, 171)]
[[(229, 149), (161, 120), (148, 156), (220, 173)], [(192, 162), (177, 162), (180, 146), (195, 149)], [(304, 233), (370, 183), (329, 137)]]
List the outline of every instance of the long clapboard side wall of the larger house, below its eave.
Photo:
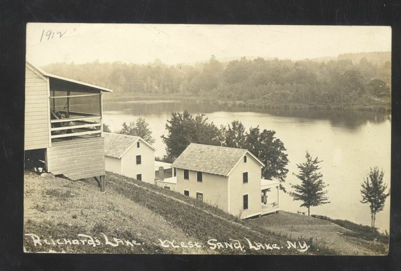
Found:
[(181, 194), (189, 191), (189, 196), (196, 198), (196, 192), (203, 193), (204, 202), (228, 211), (227, 177), (203, 173), (203, 182), (196, 181), (196, 171), (189, 170), (189, 180), (184, 180), (183, 169), (177, 168), (177, 187)]

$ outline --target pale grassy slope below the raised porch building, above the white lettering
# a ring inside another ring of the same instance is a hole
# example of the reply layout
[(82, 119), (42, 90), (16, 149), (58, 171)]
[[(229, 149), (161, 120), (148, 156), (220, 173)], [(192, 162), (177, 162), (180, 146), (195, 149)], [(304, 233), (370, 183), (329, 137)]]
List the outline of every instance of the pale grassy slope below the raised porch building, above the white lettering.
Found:
[[(112, 189), (101, 193), (94, 180), (71, 181), (57, 177), (43, 178), (36, 173), (26, 171), (24, 183), (25, 233), (29, 233), (30, 227), (27, 227), (27, 224), (35, 223), (45, 228), (64, 226), (84, 229), (83, 232), (76, 233), (96, 232), (97, 227), (101, 227), (104, 231), (111, 228), (114, 230), (111, 232), (114, 235), (129, 231), (144, 242), (154, 242), (158, 238), (196, 241), (193, 238), (189, 239), (184, 232), (160, 215)], [(43, 238), (46, 237), (48, 236), (43, 236)], [(24, 240), (31, 242), (28, 236), (25, 236)], [(154, 246), (157, 249), (158, 244)], [(45, 247), (43, 251), (46, 251)], [(175, 248), (170, 253), (188, 253), (188, 251), (195, 254), (206, 253), (204, 248), (192, 250)], [(141, 251), (132, 252), (140, 253)], [(168, 249), (166, 251), (166, 248), (163, 248), (163, 253), (166, 252), (168, 253)]]

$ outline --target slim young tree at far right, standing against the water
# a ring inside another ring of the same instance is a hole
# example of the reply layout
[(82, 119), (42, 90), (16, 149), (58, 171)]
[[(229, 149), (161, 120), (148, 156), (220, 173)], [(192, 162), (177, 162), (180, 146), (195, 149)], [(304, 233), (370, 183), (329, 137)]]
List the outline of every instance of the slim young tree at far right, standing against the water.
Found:
[(383, 182), (383, 176), (383, 170), (379, 171), (378, 167), (370, 168), (370, 172), (366, 175), (366, 179), (363, 178), (361, 184), (362, 200), (360, 202), (369, 204), (372, 228), (374, 228), (376, 213), (383, 210), (385, 199), (390, 195), (390, 192), (385, 192), (387, 185)]

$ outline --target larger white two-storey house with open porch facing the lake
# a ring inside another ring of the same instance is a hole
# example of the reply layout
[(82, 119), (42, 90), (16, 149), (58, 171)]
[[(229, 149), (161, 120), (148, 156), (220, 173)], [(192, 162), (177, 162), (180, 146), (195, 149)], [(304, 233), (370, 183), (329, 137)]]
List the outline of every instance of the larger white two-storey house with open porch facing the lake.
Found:
[(191, 143), (171, 166), (176, 192), (242, 218), (279, 210), (280, 182), (262, 179), (264, 163), (246, 149)]

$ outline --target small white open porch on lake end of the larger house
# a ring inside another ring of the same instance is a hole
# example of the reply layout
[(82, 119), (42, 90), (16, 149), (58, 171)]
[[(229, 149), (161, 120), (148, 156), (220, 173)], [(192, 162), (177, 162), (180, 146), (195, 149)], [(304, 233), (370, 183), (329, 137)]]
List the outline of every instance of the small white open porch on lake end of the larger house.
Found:
[(261, 179), (261, 215), (280, 210), (280, 181)]

